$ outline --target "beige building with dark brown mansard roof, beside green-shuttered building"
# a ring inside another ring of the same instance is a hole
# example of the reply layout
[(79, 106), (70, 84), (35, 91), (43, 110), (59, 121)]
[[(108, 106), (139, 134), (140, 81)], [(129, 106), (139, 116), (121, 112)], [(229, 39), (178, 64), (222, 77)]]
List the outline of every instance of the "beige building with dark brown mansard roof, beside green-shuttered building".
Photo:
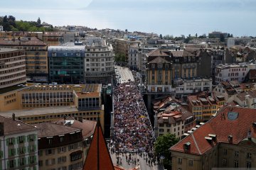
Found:
[(39, 169), (82, 169), (82, 129), (38, 123)]

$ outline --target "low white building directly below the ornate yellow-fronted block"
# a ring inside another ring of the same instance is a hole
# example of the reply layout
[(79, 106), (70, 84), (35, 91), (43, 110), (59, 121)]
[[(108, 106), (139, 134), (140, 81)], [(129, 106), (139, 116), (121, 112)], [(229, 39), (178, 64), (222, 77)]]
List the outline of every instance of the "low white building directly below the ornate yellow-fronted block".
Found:
[(175, 95), (176, 97), (187, 96), (188, 94), (197, 93), (198, 91), (212, 91), (212, 79), (178, 79), (174, 81), (176, 85)]

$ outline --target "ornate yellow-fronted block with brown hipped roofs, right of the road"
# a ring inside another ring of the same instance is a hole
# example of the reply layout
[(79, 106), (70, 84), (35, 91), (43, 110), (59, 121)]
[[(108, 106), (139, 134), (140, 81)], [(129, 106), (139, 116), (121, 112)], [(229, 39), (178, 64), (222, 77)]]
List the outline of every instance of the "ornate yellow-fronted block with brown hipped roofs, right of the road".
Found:
[(176, 79), (197, 77), (200, 57), (186, 50), (153, 50), (146, 57), (149, 92), (171, 91)]

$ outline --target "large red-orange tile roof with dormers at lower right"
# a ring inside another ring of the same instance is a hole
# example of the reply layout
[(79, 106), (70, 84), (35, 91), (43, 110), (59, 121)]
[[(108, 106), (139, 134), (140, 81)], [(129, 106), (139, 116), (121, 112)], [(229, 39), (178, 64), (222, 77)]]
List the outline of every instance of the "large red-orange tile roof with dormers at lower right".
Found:
[[(238, 113), (238, 118), (230, 120), (228, 114)], [(238, 145), (239, 142), (247, 137), (248, 131), (251, 131), (251, 137), (256, 137), (256, 128), (252, 127), (252, 123), (256, 122), (256, 110), (251, 108), (239, 108), (227, 106), (223, 108), (214, 118), (205, 123), (197, 130), (194, 130), (190, 135), (171, 147), (172, 152), (185, 152), (183, 145), (186, 142), (191, 143), (191, 149), (188, 154), (204, 154), (209, 149), (212, 149), (220, 142), (230, 143), (228, 136), (233, 136), (233, 145)], [(209, 134), (216, 135), (216, 140), (210, 144), (205, 137)]]

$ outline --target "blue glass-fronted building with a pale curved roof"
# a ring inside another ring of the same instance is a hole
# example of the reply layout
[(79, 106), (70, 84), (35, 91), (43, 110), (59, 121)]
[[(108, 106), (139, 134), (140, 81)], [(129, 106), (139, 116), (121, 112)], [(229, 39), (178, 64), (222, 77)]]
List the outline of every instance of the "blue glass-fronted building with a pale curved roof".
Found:
[(48, 47), (49, 81), (60, 84), (82, 84), (85, 46), (68, 42)]

